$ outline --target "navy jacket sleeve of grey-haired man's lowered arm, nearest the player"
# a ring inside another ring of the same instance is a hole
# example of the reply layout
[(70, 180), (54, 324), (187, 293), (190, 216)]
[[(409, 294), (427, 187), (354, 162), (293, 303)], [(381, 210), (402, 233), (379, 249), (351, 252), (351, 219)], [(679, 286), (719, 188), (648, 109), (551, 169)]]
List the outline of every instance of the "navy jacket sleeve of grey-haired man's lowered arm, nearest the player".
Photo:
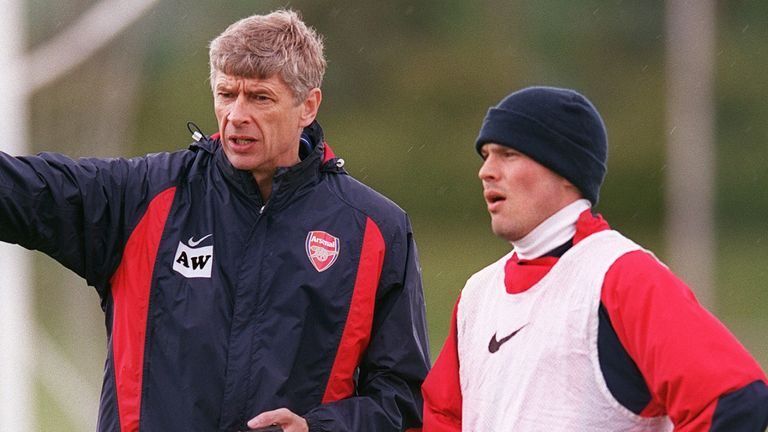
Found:
[(399, 251), (385, 260), (382, 270), (355, 394), (306, 413), (311, 432), (421, 429), (421, 384), (429, 371), (429, 342), (421, 268), (410, 225), (398, 242)]

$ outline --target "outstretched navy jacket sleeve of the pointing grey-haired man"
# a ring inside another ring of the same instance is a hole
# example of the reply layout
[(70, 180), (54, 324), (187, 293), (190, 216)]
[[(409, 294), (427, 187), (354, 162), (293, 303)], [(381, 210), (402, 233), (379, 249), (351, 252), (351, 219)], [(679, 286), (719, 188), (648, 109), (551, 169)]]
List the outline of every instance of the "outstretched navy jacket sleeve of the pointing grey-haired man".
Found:
[(106, 286), (149, 192), (146, 172), (143, 159), (0, 153), (0, 240), (39, 250), (90, 285)]

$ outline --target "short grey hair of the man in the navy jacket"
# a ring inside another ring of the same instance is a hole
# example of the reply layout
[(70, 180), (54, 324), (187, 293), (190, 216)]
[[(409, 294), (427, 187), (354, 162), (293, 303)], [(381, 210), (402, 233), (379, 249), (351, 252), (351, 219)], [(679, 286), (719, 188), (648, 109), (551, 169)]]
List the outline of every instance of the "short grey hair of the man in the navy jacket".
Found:
[(216, 72), (260, 79), (279, 74), (297, 103), (320, 87), (326, 65), (322, 36), (290, 9), (230, 25), (211, 41), (209, 58), (211, 85)]

